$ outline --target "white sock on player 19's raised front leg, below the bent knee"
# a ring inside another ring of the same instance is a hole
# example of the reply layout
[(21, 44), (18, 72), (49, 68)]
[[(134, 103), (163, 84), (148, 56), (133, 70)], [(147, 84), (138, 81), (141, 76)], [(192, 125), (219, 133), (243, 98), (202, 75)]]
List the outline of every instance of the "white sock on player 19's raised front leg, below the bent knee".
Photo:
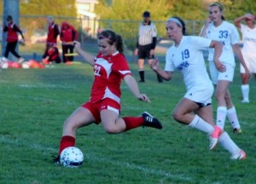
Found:
[(212, 134), (212, 131), (214, 130), (212, 124), (208, 124), (205, 122), (202, 118), (195, 115), (195, 118), (192, 120), (192, 122), (189, 124), (189, 127), (199, 129), (204, 133)]

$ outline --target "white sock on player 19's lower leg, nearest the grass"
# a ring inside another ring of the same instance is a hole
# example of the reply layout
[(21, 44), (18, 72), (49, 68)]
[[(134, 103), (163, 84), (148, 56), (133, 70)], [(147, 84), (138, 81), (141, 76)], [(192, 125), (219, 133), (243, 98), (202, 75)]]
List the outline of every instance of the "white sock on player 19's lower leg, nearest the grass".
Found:
[(234, 141), (231, 140), (230, 135), (228, 135), (226, 132), (222, 133), (218, 137), (219, 144), (224, 147), (224, 149), (228, 150), (232, 155), (239, 154), (241, 149), (236, 145)]

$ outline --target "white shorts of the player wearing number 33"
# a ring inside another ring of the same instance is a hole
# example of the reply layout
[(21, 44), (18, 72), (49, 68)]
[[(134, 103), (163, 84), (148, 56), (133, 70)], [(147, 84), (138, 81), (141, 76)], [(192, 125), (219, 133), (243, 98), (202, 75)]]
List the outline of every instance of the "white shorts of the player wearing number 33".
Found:
[(225, 72), (218, 72), (217, 68), (214, 65), (213, 61), (209, 61), (209, 70), (213, 84), (217, 84), (219, 80), (233, 81), (235, 66), (230, 65), (229, 63), (223, 63), (226, 66)]

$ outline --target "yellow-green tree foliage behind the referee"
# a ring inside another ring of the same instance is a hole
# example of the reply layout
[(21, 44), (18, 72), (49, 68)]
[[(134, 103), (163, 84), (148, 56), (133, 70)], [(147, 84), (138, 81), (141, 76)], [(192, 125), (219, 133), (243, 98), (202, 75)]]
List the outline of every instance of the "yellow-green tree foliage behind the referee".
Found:
[[(169, 9), (169, 4), (166, 2), (166, 0), (112, 0), (109, 6), (106, 1), (99, 0), (99, 4), (96, 5), (96, 14), (101, 19), (100, 26), (121, 33), (125, 45), (129, 49), (135, 49), (143, 11), (150, 11), (152, 20), (166, 20), (166, 12)], [(163, 22), (156, 24), (159, 36), (166, 35), (165, 30), (162, 29), (163, 25)]]

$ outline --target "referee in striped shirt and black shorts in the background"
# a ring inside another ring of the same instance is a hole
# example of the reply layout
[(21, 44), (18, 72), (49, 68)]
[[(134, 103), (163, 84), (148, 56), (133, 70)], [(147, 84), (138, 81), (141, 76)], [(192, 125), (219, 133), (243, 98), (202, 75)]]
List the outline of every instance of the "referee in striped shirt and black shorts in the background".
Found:
[[(137, 48), (134, 55), (137, 55), (137, 65), (140, 74), (140, 83), (145, 83), (144, 78), (144, 60), (148, 59), (148, 65), (154, 59), (154, 49), (156, 46), (157, 31), (154, 23), (150, 20), (150, 12), (145, 11), (143, 13), (143, 22), (139, 26), (139, 35), (137, 39)], [(162, 82), (162, 79), (157, 75), (158, 82)]]

